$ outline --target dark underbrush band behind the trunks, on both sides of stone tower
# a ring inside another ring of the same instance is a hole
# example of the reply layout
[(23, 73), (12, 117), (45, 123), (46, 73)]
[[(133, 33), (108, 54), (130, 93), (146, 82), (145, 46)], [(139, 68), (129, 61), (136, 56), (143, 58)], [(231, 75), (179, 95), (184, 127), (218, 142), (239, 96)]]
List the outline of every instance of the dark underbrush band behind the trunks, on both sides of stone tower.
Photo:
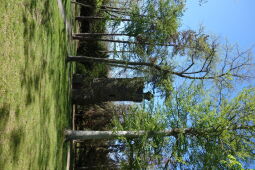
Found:
[[(79, 2), (79, 1), (78, 1)], [(84, 3), (84, 1), (80, 1)], [(103, 16), (102, 11), (97, 8), (107, 4), (108, 1), (89, 0), (86, 4), (94, 8), (80, 6), (80, 16)], [(97, 8), (96, 8), (97, 7)], [(103, 20), (83, 20), (79, 22), (80, 33), (104, 33), (106, 22)], [(97, 38), (101, 38), (97, 36)], [(90, 40), (79, 41), (77, 55), (96, 58), (108, 57), (107, 43)], [(76, 74), (84, 74), (88, 79), (106, 78), (109, 67), (100, 63), (76, 63)], [(90, 105), (77, 105), (75, 110), (75, 129), (76, 130), (107, 130), (111, 128), (111, 120), (114, 115), (113, 104), (97, 103)], [(111, 141), (76, 141), (74, 143), (74, 164), (75, 167), (85, 167), (88, 169), (108, 169), (114, 165), (114, 161), (109, 157)], [(112, 167), (113, 168), (113, 167)]]

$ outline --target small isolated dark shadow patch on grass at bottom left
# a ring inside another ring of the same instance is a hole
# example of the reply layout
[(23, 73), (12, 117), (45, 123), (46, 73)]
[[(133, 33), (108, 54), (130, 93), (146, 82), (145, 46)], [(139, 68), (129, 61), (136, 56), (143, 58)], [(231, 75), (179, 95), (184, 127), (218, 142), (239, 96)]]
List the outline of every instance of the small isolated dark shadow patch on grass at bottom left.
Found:
[(24, 138), (23, 129), (15, 129), (10, 135), (10, 150), (12, 151), (12, 160), (14, 163), (18, 161), (19, 158), (19, 148), (22, 139)]

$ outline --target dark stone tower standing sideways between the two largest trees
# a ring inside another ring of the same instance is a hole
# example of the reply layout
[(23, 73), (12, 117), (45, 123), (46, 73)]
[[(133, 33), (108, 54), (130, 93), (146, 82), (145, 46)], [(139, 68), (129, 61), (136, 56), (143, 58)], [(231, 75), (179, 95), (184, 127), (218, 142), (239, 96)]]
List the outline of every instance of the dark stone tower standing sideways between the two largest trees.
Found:
[(84, 105), (106, 101), (150, 100), (151, 93), (143, 93), (143, 78), (95, 78), (88, 80), (84, 75), (73, 76), (73, 103)]

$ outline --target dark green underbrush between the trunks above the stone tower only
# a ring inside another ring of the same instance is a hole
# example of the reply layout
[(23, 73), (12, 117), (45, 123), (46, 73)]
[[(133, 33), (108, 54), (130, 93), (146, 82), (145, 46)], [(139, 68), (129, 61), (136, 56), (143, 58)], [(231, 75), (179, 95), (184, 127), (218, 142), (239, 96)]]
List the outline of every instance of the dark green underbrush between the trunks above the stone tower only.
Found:
[[(105, 5), (108, 0), (90, 0), (86, 4), (91, 5), (95, 8), (82, 8), (83, 15), (88, 16), (108, 16), (101, 10), (102, 5)], [(89, 12), (87, 12), (89, 10)], [(86, 13), (87, 12), (87, 13)], [(89, 20), (81, 22), (80, 32), (92, 32), (92, 33), (103, 33), (106, 30), (107, 20)], [(100, 36), (96, 38), (101, 38)], [(107, 55), (101, 51), (107, 51), (107, 44), (95, 40), (80, 42), (77, 49), (78, 55), (85, 55), (96, 58), (106, 58)], [(109, 67), (102, 63), (77, 63), (76, 73), (86, 74), (88, 77), (107, 77)]]

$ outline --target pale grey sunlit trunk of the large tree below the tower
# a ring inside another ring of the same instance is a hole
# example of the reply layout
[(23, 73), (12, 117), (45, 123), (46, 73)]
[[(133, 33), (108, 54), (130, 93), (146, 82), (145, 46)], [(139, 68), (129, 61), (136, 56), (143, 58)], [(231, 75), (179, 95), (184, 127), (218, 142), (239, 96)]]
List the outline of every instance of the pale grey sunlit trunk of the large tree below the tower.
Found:
[(176, 136), (178, 134), (195, 135), (196, 131), (192, 128), (172, 129), (162, 131), (75, 131), (65, 130), (67, 140), (101, 140), (101, 139), (116, 139), (118, 137), (138, 138), (144, 135), (153, 136)]

